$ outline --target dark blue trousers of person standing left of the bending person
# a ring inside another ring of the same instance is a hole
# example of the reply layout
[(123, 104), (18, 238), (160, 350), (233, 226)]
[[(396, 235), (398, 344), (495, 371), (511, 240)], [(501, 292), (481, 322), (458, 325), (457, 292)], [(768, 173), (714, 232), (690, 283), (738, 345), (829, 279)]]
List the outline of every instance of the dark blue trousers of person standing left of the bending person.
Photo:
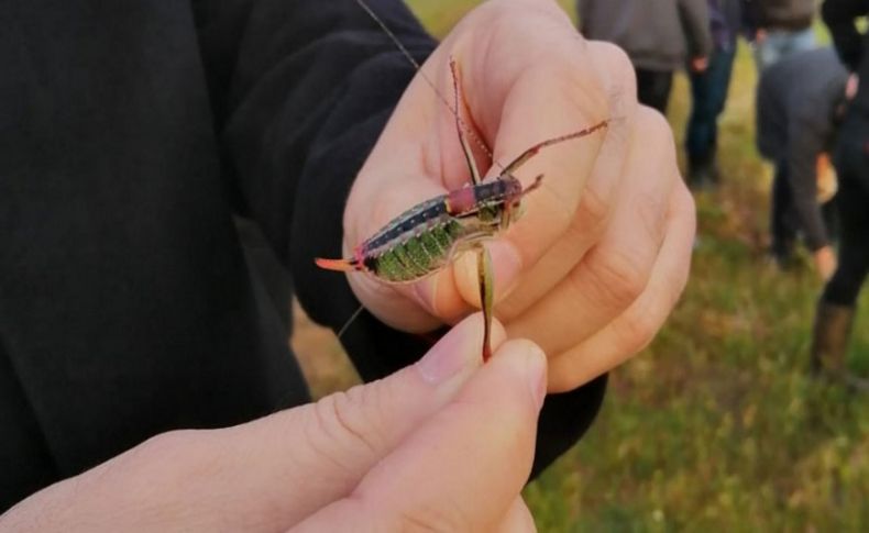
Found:
[(691, 118), (685, 133), (688, 160), (692, 168), (708, 165), (715, 157), (718, 115), (724, 111), (736, 51), (716, 48), (704, 73), (691, 73)]

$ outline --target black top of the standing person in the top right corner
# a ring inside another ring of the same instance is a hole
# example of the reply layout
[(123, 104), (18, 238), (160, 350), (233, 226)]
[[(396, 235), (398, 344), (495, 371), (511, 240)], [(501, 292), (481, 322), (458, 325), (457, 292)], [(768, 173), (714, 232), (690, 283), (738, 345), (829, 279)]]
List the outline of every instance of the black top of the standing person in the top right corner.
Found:
[(860, 35), (856, 25), (869, 15), (869, 0), (826, 0), (823, 14), (842, 62), (860, 78), (850, 107), (869, 115), (869, 33)]

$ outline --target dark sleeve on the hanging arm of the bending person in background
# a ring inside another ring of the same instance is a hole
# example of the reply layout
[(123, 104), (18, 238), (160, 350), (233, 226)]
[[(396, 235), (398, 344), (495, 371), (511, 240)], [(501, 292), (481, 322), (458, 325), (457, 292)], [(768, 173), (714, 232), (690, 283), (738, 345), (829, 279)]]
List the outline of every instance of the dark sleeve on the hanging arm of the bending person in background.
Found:
[[(822, 107), (823, 108), (823, 107)], [(788, 124), (788, 180), (793, 206), (812, 252), (829, 244), (821, 204), (817, 202), (817, 156), (826, 148), (829, 121), (818, 121), (817, 112), (799, 110)]]

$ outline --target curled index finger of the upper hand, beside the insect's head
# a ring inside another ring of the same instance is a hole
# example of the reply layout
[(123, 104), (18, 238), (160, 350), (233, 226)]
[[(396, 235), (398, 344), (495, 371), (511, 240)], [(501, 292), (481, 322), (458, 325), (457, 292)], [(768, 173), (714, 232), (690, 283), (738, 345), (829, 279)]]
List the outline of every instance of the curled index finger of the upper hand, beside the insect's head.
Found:
[[(525, 187), (543, 175), (541, 189), (524, 199), (524, 220), (507, 235), (527, 268), (575, 216), (603, 145), (605, 132), (601, 130), (605, 129), (595, 126), (610, 119), (609, 96), (590, 58), (587, 43), (558, 5), (503, 3), (509, 10), (495, 18), (488, 46), (476, 45), (485, 60), (472, 62), (479, 71), (468, 88), (472, 107), (485, 108), (475, 113), (484, 118), (482, 127), (494, 130), (496, 163), (490, 176), (541, 142), (564, 138), (541, 146), (512, 170)], [(580, 132), (587, 134), (570, 137)]]

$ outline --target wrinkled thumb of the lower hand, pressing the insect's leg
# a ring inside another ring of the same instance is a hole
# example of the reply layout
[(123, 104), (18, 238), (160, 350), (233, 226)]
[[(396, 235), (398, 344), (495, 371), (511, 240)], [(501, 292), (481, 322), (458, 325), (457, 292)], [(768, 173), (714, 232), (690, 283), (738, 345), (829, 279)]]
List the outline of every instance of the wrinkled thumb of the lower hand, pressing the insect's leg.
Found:
[[(493, 324), (493, 345), (504, 337)], [(222, 509), (277, 528), (349, 495), (365, 474), (448, 403), (482, 364), (482, 315), (453, 327), (417, 364), (317, 403), (222, 430), (221, 477), (233, 479)], [(228, 511), (231, 509), (231, 511)], [(267, 523), (268, 523), (267, 522)]]

